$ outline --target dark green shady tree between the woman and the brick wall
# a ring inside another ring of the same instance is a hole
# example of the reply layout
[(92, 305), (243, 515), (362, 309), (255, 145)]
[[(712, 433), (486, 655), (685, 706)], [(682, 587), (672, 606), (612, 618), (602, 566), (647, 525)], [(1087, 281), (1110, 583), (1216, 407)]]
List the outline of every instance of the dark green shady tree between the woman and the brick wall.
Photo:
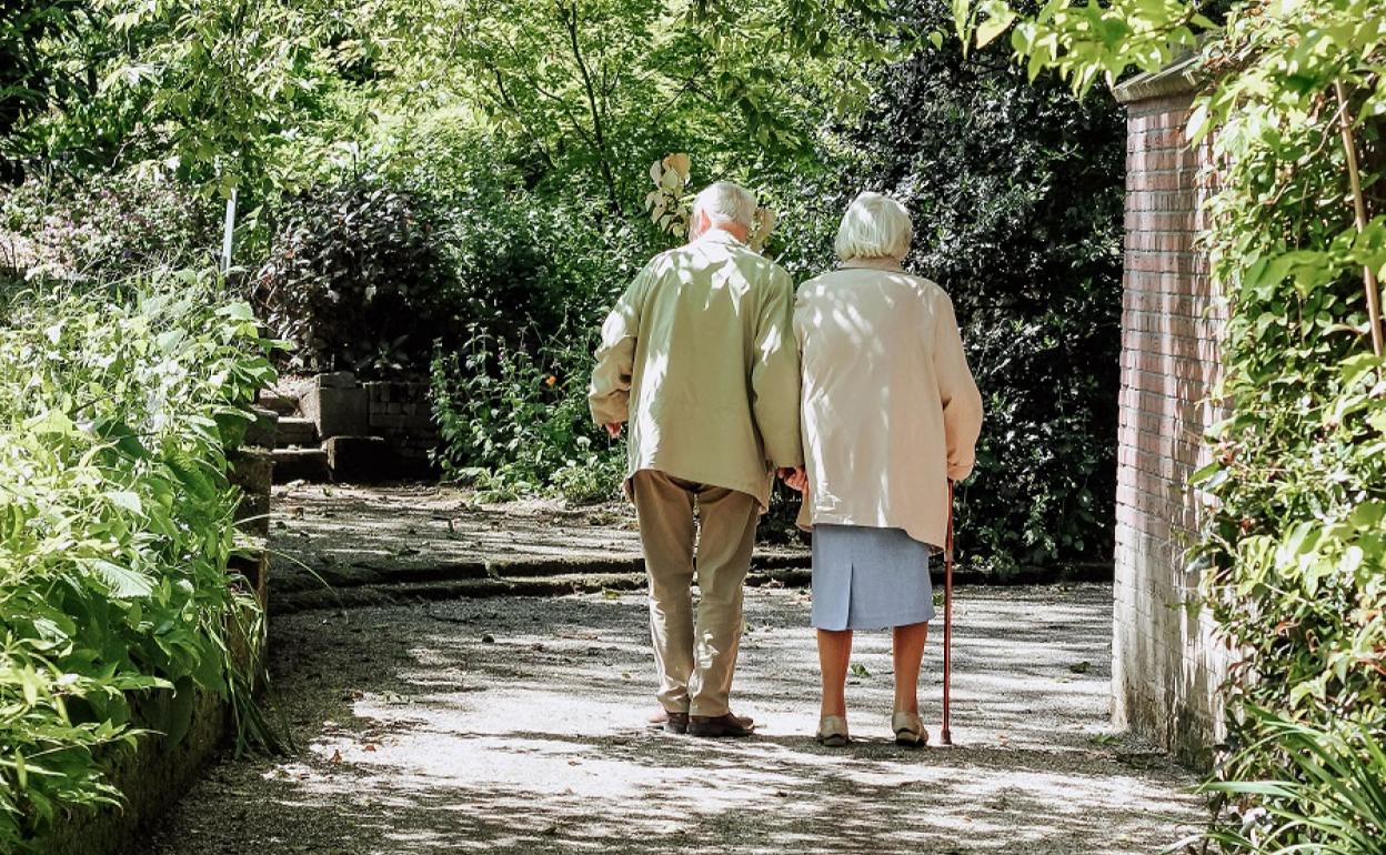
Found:
[[(927, 32), (942, 3), (918, 3)], [(987, 394), (962, 546), (998, 570), (1110, 557), (1125, 122), (1110, 97), (1026, 83), (992, 49), (922, 44), (879, 82), (866, 187), (911, 208)]]

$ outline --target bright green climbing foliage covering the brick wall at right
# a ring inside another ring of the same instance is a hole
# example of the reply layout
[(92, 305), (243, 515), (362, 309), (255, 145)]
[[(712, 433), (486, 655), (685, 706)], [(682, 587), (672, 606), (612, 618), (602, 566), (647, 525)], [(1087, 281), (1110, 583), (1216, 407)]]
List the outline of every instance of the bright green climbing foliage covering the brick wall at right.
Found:
[[(1199, 21), (1186, 4), (1139, 6), (1142, 32), (1113, 30), (1105, 47), (1096, 24), (1059, 26), (1051, 7), (1021, 21), (1015, 44), (1033, 68), (1058, 68), (1080, 89), (1130, 64), (1149, 68), (1188, 43), (1181, 21)], [(1021, 32), (1055, 40), (1040, 49)], [(1152, 42), (1160, 37), (1163, 47)], [(1285, 786), (1214, 787), (1246, 797), (1214, 829), (1229, 851), (1380, 851), (1379, 823), (1375, 834), (1343, 834), (1300, 819), (1329, 809), (1349, 819), (1333, 802), (1343, 793), (1325, 790), (1307, 755), (1353, 766), (1376, 793), (1386, 788), (1379, 757), (1362, 766), (1361, 744), (1310, 747), (1297, 728), (1386, 728), (1386, 373), (1368, 352), (1379, 320), (1362, 287), (1364, 270), (1375, 274), (1368, 290), (1386, 273), (1383, 67), (1380, 3), (1235, 4), (1204, 49), (1210, 82), (1189, 119), (1217, 169), (1206, 245), (1228, 313), (1220, 398), (1229, 414), (1210, 437), (1214, 463), (1193, 477), (1213, 504), (1199, 550), (1206, 604), (1239, 653), (1225, 689), (1229, 740), (1242, 750), (1220, 776), (1295, 772)]]

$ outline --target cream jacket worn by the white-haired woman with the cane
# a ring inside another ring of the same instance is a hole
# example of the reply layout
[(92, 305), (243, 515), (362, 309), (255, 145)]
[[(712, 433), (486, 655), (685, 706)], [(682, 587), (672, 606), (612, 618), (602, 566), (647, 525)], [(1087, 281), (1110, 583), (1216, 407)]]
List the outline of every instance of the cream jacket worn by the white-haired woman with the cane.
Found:
[(948, 479), (972, 473), (981, 395), (952, 302), (893, 261), (798, 288), (809, 491), (800, 525), (902, 528), (942, 546)]

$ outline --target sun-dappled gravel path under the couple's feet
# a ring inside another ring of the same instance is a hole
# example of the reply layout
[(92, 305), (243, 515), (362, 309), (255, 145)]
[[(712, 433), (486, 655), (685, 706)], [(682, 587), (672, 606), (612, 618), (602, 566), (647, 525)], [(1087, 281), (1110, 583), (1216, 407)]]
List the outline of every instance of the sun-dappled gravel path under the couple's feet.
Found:
[[(761, 728), (736, 741), (643, 725), (639, 594), (277, 618), (274, 694), (298, 752), (213, 766), (137, 851), (1159, 852), (1202, 809), (1188, 772), (1109, 734), (1110, 603), (1103, 585), (963, 589), (958, 746), (919, 752), (886, 739), (884, 633), (858, 636), (858, 744), (814, 744), (801, 590), (748, 592), (733, 700)], [(937, 719), (937, 676), (924, 691)]]

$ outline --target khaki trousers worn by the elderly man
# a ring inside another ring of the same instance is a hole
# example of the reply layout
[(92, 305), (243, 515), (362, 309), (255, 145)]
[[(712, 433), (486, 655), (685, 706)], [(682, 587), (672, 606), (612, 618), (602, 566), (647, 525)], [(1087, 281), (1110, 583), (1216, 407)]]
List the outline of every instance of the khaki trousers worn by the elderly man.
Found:
[[(660, 704), (669, 712), (726, 715), (760, 503), (747, 493), (657, 470), (640, 470), (631, 481), (650, 576)], [(694, 574), (700, 594), (696, 621)]]

